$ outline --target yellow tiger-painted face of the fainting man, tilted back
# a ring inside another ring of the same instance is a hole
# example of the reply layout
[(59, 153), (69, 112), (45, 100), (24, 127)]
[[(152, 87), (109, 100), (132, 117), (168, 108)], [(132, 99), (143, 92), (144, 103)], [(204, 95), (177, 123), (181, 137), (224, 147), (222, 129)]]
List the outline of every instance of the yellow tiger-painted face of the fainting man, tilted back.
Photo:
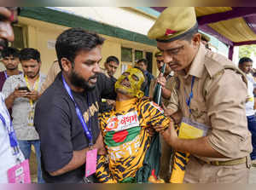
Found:
[(115, 83), (115, 91), (141, 98), (144, 95), (141, 90), (144, 80), (143, 72), (137, 68), (130, 68), (124, 72)]

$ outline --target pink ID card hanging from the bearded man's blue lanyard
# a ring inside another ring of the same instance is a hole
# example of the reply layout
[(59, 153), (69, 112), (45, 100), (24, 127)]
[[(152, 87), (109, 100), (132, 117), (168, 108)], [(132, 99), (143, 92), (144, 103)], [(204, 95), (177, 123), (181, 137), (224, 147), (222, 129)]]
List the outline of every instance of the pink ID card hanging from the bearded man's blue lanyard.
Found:
[(96, 172), (97, 164), (97, 149), (87, 151), (85, 164), (85, 177), (88, 177)]

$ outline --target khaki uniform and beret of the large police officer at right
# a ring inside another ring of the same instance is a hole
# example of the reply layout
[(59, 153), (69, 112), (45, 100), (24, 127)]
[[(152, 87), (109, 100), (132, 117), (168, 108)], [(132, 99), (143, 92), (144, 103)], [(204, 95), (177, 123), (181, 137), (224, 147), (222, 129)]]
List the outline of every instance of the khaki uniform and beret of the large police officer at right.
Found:
[[(194, 8), (170, 7), (160, 14), (148, 37), (160, 43), (171, 43), (197, 31)], [(186, 100), (191, 92), (192, 78), (195, 83), (188, 106)], [(241, 70), (223, 55), (201, 44), (189, 72), (177, 72), (175, 82), (168, 108), (181, 112), (184, 118), (207, 125), (209, 145), (226, 157), (190, 155), (183, 181), (246, 183), (252, 143), (245, 112), (247, 81)]]

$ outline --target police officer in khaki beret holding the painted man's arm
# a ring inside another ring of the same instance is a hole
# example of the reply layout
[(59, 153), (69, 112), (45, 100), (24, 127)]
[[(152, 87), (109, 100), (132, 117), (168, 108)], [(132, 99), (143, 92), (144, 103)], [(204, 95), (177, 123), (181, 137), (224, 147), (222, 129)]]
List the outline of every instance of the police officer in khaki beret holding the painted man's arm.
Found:
[(156, 39), (164, 61), (177, 72), (170, 104), (178, 102), (172, 111), (183, 116), (179, 134), (173, 124), (155, 129), (175, 150), (190, 153), (184, 182), (246, 183), (252, 145), (244, 75), (201, 43), (194, 8), (167, 8), (148, 37)]

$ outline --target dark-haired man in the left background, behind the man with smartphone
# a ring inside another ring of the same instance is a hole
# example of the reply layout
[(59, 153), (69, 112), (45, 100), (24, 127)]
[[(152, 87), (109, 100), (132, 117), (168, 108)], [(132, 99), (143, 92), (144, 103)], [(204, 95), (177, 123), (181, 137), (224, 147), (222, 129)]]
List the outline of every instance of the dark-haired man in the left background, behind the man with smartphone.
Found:
[(18, 69), (18, 66), (20, 64), (19, 55), (20, 55), (20, 51), (18, 49), (11, 48), (11, 47), (3, 49), (2, 61), (6, 70), (3, 72), (0, 72), (0, 91), (2, 91), (3, 83), (7, 78), (9, 78), (9, 76), (13, 76), (21, 73)]

